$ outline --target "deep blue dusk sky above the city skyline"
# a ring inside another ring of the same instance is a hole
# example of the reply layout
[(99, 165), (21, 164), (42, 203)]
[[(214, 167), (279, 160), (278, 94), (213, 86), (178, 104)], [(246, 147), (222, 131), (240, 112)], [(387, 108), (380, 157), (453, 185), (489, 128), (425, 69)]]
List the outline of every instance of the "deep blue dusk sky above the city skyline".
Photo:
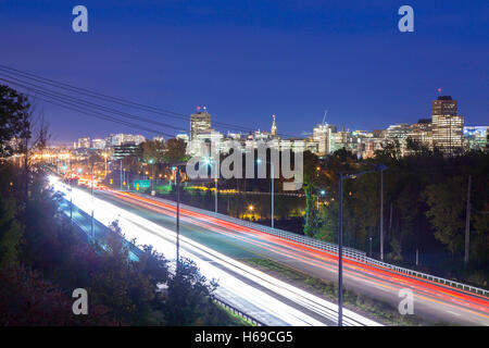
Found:
[[(88, 33), (72, 30), (77, 4)], [(403, 4), (414, 33), (398, 30)], [(350, 129), (415, 123), (438, 88), (467, 125), (489, 124), (487, 0), (0, 0), (0, 64), (185, 114), (206, 105), (213, 121), (251, 128), (268, 130), (275, 113), (279, 133), (300, 136), (325, 109)], [(55, 141), (153, 136), (39, 108)]]

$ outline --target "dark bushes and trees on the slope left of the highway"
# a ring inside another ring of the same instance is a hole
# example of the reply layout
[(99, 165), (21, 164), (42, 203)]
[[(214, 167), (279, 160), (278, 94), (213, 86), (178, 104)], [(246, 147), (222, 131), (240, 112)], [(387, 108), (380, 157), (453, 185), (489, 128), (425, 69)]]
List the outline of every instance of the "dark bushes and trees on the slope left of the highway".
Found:
[[(72, 227), (48, 169), (29, 159), (48, 139), (37, 121), (23, 95), (0, 86), (0, 326), (242, 324), (212, 300), (216, 284), (192, 261), (173, 273), (150, 246), (131, 260), (116, 222), (95, 243)], [(87, 315), (73, 313), (77, 288)]]

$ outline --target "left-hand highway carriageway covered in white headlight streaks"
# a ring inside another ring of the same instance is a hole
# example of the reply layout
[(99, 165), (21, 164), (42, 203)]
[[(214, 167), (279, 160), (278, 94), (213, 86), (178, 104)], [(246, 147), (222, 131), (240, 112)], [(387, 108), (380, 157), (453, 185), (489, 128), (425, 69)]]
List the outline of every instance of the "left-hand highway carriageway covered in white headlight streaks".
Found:
[[(168, 260), (172, 261), (173, 256), (174, 261), (174, 225), (173, 229), (166, 228), (164, 224), (146, 219), (141, 211), (134, 213), (118, 202), (113, 204), (110, 200), (117, 200), (117, 196), (114, 194), (97, 191), (96, 198), (92, 199), (86, 190), (73, 188), (70, 194), (68, 187), (58, 179), (51, 177), (51, 183), (57, 190), (64, 194), (66, 199), (71, 196), (74, 206), (86, 214), (90, 214), (93, 207), (93, 216), (98, 224), (106, 226), (110, 222), (117, 220), (127, 239), (136, 238), (137, 245), (152, 245)], [(77, 223), (89, 225), (87, 221), (83, 221), (84, 217), (79, 213), (74, 214), (74, 219), (78, 220)], [(183, 226), (183, 231), (186, 233), (183, 233), (180, 237), (180, 256), (192, 259), (203, 275), (218, 282), (220, 287), (215, 293), (217, 298), (224, 299), (267, 325), (336, 325), (336, 303), (273, 278), (231, 257), (186, 237), (189, 229), (185, 226)], [(355, 326), (379, 325), (377, 322), (349, 310), (343, 310), (343, 323)]]

